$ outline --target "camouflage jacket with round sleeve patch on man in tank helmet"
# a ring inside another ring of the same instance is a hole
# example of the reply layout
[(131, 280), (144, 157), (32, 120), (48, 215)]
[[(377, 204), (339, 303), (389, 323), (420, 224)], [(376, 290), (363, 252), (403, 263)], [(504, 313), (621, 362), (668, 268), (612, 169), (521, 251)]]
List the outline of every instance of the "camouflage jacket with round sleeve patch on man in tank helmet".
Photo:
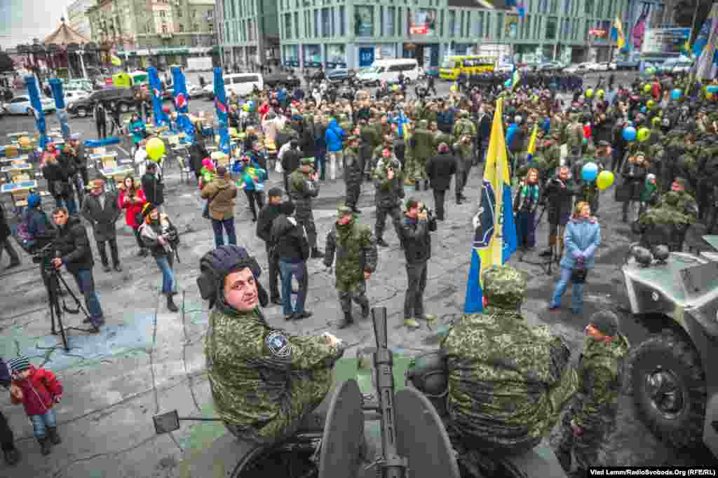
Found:
[(274, 330), (259, 310), (215, 309), (205, 337), (208, 378), (218, 415), (247, 436), (286, 432), (286, 415), (322, 401), (331, 384), (337, 348), (319, 336)]

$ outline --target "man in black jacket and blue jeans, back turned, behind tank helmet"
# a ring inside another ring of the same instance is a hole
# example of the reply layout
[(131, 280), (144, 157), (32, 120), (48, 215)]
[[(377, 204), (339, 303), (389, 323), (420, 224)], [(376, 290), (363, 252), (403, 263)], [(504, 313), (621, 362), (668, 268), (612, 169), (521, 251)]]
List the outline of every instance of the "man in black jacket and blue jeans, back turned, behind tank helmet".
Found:
[[(275, 254), (279, 257), (281, 274), (281, 301), (286, 320), (299, 320), (312, 316), (312, 312), (304, 310), (309, 287), (307, 259), (309, 259), (309, 241), (301, 226), (294, 219), (294, 203), (286, 201), (279, 206), (281, 214), (274, 219), (271, 226), (271, 242)], [(299, 282), (297, 303), (292, 308), (292, 277)]]

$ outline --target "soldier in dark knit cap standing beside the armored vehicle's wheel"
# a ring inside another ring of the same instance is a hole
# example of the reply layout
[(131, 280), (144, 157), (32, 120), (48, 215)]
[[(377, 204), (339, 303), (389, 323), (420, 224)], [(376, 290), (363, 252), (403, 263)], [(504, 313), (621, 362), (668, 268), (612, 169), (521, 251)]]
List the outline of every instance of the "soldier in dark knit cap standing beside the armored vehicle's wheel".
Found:
[(561, 419), (556, 453), (569, 472), (574, 452), (576, 477), (588, 476), (588, 468), (597, 466), (600, 446), (615, 426), (623, 361), (629, 348), (613, 312), (602, 310), (592, 315), (578, 364), (579, 393)]

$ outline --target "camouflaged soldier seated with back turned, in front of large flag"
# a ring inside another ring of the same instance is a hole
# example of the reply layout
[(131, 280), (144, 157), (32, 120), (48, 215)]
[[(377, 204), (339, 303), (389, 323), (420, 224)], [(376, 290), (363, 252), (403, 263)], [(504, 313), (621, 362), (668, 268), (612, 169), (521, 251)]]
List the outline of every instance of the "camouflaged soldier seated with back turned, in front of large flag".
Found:
[(523, 274), (494, 267), (483, 273), (482, 286), (483, 311), (463, 315), (441, 345), (449, 374), (447, 431), (460, 459), (464, 447), (484, 456), (531, 450), (577, 390), (564, 339), (521, 315)]

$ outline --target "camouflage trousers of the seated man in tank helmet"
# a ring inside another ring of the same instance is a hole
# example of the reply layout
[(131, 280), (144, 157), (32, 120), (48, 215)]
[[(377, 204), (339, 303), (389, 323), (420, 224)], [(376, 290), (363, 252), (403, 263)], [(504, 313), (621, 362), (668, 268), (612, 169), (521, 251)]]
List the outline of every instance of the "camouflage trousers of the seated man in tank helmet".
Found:
[(332, 369), (312, 371), (311, 376), (292, 377), (292, 396), (276, 417), (258, 427), (229, 424), (225, 426), (238, 439), (269, 445), (291, 438), (302, 420), (322, 403), (332, 386)]

